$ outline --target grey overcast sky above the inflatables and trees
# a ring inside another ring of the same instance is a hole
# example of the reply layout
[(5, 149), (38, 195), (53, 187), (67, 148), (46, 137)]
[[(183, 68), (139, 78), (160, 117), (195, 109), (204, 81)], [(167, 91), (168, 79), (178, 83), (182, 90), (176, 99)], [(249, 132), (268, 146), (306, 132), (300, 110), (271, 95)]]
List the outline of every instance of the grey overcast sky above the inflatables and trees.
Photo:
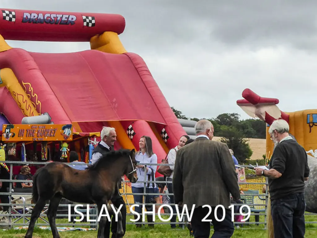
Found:
[[(249, 118), (236, 105), (245, 88), (278, 98), (286, 112), (317, 107), (316, 1), (1, 0), (1, 7), (121, 14), (124, 47), (145, 60), (170, 106), (189, 117)], [(90, 47), (8, 43), (34, 52)]]

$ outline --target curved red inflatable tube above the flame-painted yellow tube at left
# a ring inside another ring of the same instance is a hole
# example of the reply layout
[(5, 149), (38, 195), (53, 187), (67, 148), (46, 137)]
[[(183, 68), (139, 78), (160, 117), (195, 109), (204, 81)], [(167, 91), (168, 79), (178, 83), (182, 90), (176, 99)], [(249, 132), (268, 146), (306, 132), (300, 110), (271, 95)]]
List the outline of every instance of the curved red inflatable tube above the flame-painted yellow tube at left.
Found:
[(30, 100), (35, 103), (37, 112), (41, 114), (48, 112), (55, 124), (71, 124), (61, 103), (56, 98), (37, 64), (27, 51), (13, 48), (1, 52), (0, 69), (2, 68), (12, 69), (21, 85), (23, 85), (22, 81), (31, 84), (33, 91), (27, 86), (27, 93), (30, 95), (36, 94), (37, 98), (41, 100), (40, 105), (36, 102), (36, 97), (30, 98)]

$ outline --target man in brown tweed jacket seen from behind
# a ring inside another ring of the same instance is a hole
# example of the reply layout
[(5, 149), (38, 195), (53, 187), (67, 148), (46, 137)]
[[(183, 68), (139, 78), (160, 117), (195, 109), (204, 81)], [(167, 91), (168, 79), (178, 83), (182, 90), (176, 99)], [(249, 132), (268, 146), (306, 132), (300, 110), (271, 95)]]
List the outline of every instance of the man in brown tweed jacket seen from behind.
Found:
[[(214, 225), (212, 237), (231, 237), (234, 232), (231, 220), (230, 193), (237, 203), (240, 201), (238, 178), (229, 148), (225, 143), (212, 141), (214, 127), (208, 120), (200, 120), (195, 125), (197, 138), (178, 149), (174, 175), (173, 193), (175, 204), (186, 204), (193, 211), (191, 226), (194, 237), (210, 236), (210, 219)], [(209, 205), (212, 209), (204, 207)], [(215, 208), (222, 205), (225, 208)], [(191, 213), (191, 211), (190, 211)], [(207, 221), (204, 221), (204, 218)], [(209, 220), (209, 221), (208, 221)]]

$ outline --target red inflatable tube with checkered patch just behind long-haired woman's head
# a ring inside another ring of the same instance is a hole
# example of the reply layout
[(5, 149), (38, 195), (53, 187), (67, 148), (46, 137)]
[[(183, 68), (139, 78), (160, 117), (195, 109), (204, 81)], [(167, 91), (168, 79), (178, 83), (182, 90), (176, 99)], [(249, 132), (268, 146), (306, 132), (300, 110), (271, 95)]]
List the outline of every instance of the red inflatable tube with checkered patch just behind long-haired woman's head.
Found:
[[(166, 153), (153, 133), (150, 125), (146, 121), (121, 121), (123, 128), (128, 131), (128, 136), (132, 138), (132, 143), (135, 149), (139, 150), (139, 140), (141, 136), (149, 136), (152, 139), (152, 149), (153, 152), (158, 157), (158, 164), (161, 163), (162, 159), (165, 158)], [(160, 173), (156, 172), (155, 177), (162, 176)]]

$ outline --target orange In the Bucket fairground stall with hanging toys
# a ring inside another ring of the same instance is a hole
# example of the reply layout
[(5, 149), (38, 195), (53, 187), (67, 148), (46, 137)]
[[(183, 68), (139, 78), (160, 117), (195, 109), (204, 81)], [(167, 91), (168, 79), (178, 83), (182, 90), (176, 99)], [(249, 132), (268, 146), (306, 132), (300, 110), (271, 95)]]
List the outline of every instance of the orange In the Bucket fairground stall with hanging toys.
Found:
[[(2, 116), (3, 118), (3, 116)], [(69, 162), (69, 151), (76, 151), (79, 160), (89, 163), (100, 132), (73, 132), (72, 124), (2, 124), (0, 149), (2, 161)], [(31, 174), (38, 166), (29, 166)], [(13, 174), (21, 166), (14, 166)]]

